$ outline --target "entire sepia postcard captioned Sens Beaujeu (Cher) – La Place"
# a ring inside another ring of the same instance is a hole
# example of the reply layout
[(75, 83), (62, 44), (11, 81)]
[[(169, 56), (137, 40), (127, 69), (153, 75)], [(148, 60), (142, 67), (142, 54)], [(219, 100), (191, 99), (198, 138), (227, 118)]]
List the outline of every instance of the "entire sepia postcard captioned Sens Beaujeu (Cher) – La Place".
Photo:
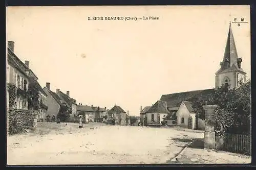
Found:
[(250, 6), (6, 11), (7, 165), (251, 162)]

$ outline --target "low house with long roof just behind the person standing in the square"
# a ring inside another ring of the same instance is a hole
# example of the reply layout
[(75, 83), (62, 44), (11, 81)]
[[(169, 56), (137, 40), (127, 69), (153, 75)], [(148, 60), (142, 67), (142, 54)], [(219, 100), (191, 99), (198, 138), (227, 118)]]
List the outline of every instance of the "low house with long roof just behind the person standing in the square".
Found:
[(95, 110), (88, 105), (81, 105), (80, 103), (77, 106), (77, 115), (83, 115), (88, 117), (89, 121), (86, 119), (86, 122), (94, 122), (95, 119)]

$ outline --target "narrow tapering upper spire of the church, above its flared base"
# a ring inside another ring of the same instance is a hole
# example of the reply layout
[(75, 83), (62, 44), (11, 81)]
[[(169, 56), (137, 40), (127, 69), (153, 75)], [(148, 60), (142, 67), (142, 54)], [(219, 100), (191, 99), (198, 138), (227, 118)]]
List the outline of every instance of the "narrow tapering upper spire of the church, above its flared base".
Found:
[(227, 43), (223, 57), (223, 66), (225, 68), (231, 67), (233, 64), (238, 67), (238, 53), (234, 37), (231, 29), (231, 22), (229, 21), (229, 32), (227, 36)]

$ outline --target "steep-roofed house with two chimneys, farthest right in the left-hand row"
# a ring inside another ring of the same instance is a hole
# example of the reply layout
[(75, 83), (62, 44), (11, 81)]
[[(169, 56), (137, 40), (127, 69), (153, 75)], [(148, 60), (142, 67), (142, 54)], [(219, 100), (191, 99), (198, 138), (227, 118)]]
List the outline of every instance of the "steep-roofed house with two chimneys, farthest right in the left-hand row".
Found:
[(67, 104), (68, 108), (70, 109), (70, 116), (74, 117), (77, 113), (77, 104), (75, 99), (70, 98), (70, 91), (67, 91), (65, 94), (60, 91), (60, 89), (56, 89), (56, 94), (59, 96), (61, 101), (63, 101), (62, 103)]

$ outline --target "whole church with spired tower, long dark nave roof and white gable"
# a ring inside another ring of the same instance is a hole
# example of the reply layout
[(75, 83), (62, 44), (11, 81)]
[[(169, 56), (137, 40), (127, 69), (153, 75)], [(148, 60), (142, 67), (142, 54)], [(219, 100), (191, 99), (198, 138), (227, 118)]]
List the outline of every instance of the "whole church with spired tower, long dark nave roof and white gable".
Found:
[(209, 94), (215, 92), (221, 85), (230, 88), (238, 88), (239, 82), (246, 82), (246, 72), (241, 67), (242, 58), (239, 58), (236, 44), (234, 41), (231, 23), (229, 22), (229, 31), (226, 41), (223, 61), (220, 62), (220, 68), (215, 76), (215, 88), (205, 90), (186, 91), (180, 93), (164, 94), (160, 101), (165, 101), (169, 111), (165, 117), (167, 125), (180, 125), (190, 129), (195, 129), (196, 122), (199, 129), (204, 129), (204, 120), (196, 120), (196, 114), (193, 110), (192, 103), (187, 100), (193, 97), (207, 99)]

